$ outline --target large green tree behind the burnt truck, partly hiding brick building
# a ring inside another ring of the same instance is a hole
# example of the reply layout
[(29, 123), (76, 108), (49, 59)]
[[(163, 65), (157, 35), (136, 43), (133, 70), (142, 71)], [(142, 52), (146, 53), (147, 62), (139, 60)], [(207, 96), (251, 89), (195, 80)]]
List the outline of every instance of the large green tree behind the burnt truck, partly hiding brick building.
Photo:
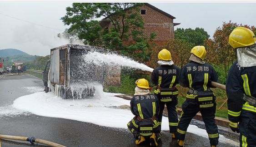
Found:
[[(145, 36), (144, 22), (138, 9), (143, 3), (73, 3), (61, 18), (71, 25), (79, 39), (89, 45), (104, 47), (133, 59), (148, 61), (151, 54), (148, 41), (156, 34)], [(96, 19), (103, 18), (101, 21)], [(111, 27), (102, 29), (99, 22), (110, 22)]]

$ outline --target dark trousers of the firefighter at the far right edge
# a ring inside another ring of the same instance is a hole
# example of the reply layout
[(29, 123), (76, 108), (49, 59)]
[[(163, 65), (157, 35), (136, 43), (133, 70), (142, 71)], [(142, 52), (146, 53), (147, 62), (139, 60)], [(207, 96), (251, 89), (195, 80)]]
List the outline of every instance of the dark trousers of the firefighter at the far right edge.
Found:
[[(243, 113), (243, 112), (242, 112)], [(240, 147), (256, 147), (256, 118), (243, 117), (239, 122)]]

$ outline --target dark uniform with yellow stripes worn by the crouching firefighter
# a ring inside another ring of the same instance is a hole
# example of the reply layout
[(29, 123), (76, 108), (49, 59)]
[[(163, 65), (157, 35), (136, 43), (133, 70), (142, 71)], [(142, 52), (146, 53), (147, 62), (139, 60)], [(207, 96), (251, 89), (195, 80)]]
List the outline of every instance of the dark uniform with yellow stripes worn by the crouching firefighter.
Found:
[(153, 94), (134, 95), (131, 98), (131, 112), (135, 115), (127, 127), (134, 138), (138, 136), (150, 137), (155, 133), (157, 140), (161, 137), (157, 115), (159, 113), (159, 101)]

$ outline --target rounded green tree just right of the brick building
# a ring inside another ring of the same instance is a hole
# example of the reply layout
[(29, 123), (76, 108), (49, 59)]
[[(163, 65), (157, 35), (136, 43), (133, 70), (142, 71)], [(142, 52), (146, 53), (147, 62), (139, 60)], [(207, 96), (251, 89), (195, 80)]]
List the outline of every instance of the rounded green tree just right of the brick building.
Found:
[(204, 45), (204, 41), (208, 40), (210, 35), (203, 28), (196, 29), (181, 29), (178, 28), (174, 31), (176, 39), (185, 40), (190, 44)]

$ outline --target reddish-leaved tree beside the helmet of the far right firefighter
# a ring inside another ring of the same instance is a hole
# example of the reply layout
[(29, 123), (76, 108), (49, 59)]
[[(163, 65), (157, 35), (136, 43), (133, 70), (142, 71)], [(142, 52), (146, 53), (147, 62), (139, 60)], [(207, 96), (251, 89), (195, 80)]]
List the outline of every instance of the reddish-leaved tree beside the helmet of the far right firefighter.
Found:
[(250, 27), (249, 25), (239, 25), (229, 21), (228, 23), (223, 22), (222, 26), (218, 27), (213, 34), (213, 39), (206, 41), (206, 46), (208, 46), (207, 60), (214, 64), (215, 68), (219, 68), (224, 71), (226, 77), (229, 68), (237, 59), (235, 50), (228, 44), (228, 38), (232, 30), (238, 26), (246, 27), (256, 33), (254, 26)]

